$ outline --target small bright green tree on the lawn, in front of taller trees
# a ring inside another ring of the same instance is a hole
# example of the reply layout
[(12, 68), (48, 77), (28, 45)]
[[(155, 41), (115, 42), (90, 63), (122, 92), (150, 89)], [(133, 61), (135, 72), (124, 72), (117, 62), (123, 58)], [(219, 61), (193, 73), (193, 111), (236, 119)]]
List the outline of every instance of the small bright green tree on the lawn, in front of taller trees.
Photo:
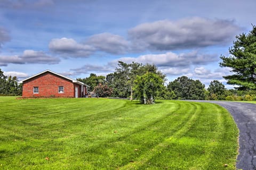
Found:
[(157, 92), (164, 88), (163, 83), (164, 80), (155, 73), (147, 72), (144, 75), (138, 75), (134, 81), (134, 91), (140, 103), (153, 104)]

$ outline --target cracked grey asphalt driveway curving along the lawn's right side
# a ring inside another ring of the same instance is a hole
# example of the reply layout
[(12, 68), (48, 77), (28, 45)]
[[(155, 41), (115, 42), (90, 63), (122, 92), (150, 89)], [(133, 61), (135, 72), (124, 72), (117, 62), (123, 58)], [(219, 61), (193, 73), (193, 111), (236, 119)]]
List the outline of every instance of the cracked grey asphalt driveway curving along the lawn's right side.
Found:
[(236, 168), (256, 169), (256, 105), (229, 101), (204, 101), (225, 107), (239, 129), (239, 155)]

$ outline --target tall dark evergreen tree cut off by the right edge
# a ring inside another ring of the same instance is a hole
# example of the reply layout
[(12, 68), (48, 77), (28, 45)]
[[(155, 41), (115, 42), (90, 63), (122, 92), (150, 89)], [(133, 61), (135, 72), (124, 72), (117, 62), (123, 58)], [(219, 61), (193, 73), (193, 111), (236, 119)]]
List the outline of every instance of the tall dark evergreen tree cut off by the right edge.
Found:
[(233, 75), (224, 76), (228, 84), (237, 84), (240, 90), (256, 89), (256, 27), (246, 35), (236, 36), (229, 48), (229, 57), (221, 55), (221, 67), (230, 67)]

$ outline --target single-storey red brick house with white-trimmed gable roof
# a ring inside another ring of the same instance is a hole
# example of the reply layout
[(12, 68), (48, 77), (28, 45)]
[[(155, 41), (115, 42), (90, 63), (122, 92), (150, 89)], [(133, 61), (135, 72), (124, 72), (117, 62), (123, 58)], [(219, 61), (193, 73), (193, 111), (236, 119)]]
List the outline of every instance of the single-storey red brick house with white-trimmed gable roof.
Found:
[(89, 87), (51, 70), (35, 74), (19, 83), (22, 83), (22, 97), (84, 97)]

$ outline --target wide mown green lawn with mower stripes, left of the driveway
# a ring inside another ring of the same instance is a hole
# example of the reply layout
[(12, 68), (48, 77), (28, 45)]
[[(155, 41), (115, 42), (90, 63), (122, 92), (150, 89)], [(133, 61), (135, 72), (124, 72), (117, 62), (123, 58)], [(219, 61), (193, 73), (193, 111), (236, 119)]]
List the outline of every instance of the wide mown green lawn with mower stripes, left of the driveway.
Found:
[(0, 97), (0, 169), (235, 169), (237, 137), (209, 103)]

